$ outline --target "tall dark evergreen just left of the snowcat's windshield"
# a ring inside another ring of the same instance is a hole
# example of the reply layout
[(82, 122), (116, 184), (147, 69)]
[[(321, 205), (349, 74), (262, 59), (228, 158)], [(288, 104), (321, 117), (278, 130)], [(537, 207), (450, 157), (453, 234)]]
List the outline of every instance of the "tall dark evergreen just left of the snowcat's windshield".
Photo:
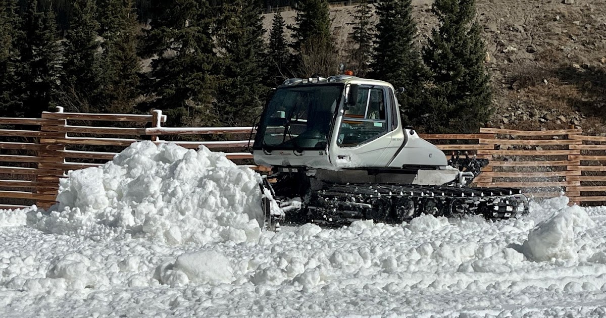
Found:
[(232, 0), (222, 5), (217, 24), (221, 84), (217, 95), (221, 119), (230, 126), (251, 125), (262, 110), (265, 70), (261, 9), (255, 1)]

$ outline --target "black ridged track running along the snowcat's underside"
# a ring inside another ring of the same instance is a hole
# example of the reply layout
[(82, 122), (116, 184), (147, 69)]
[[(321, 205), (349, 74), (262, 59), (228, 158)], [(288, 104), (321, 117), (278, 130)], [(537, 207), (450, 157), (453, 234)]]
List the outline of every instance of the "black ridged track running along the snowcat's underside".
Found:
[(517, 189), (423, 185), (325, 185), (313, 191), (301, 213), (287, 224), (315, 222), (349, 225), (358, 219), (400, 223), (421, 214), (458, 217), (481, 215), (501, 220), (528, 212), (528, 199)]

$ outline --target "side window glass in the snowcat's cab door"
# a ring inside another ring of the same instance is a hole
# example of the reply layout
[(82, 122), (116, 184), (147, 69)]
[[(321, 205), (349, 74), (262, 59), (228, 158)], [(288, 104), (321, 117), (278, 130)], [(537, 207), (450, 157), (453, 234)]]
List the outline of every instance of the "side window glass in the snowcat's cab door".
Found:
[(377, 87), (360, 87), (355, 106), (345, 111), (338, 142), (353, 147), (387, 133), (385, 90)]

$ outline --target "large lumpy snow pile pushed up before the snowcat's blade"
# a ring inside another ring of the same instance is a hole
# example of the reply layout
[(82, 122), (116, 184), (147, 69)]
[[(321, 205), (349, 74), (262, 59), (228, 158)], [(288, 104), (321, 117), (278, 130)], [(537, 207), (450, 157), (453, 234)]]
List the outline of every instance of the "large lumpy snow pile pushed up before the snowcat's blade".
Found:
[(146, 237), (170, 245), (256, 242), (259, 174), (201, 147), (132, 144), (101, 167), (70, 171), (59, 204), (35, 226), (92, 239)]

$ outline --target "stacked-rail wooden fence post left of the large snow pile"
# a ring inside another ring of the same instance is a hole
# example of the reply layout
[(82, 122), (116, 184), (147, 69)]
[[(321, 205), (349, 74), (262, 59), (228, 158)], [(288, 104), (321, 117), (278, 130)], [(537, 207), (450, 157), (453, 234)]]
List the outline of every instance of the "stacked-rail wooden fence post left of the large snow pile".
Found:
[[(63, 113), (63, 107), (57, 107), (57, 113)], [(42, 113), (42, 118), (45, 118), (45, 113)], [(40, 125), (40, 131), (53, 131), (56, 130), (48, 129), (50, 126), (65, 126), (67, 120), (59, 119), (55, 121), (56, 124), (42, 124)], [(67, 133), (64, 133), (63, 138), (67, 137)], [(36, 193), (38, 194), (51, 194), (57, 195), (59, 191), (59, 179), (64, 176), (64, 170), (61, 168), (61, 164), (65, 162), (65, 145), (57, 144), (56, 139), (40, 138), (41, 145), (47, 145), (49, 147), (44, 150), (38, 151), (38, 156), (44, 157), (44, 162), (38, 164), (38, 175)], [(51, 147), (51, 146), (55, 147)], [(49, 208), (55, 204), (55, 201), (50, 200), (38, 200), (36, 205), (39, 208)]]

